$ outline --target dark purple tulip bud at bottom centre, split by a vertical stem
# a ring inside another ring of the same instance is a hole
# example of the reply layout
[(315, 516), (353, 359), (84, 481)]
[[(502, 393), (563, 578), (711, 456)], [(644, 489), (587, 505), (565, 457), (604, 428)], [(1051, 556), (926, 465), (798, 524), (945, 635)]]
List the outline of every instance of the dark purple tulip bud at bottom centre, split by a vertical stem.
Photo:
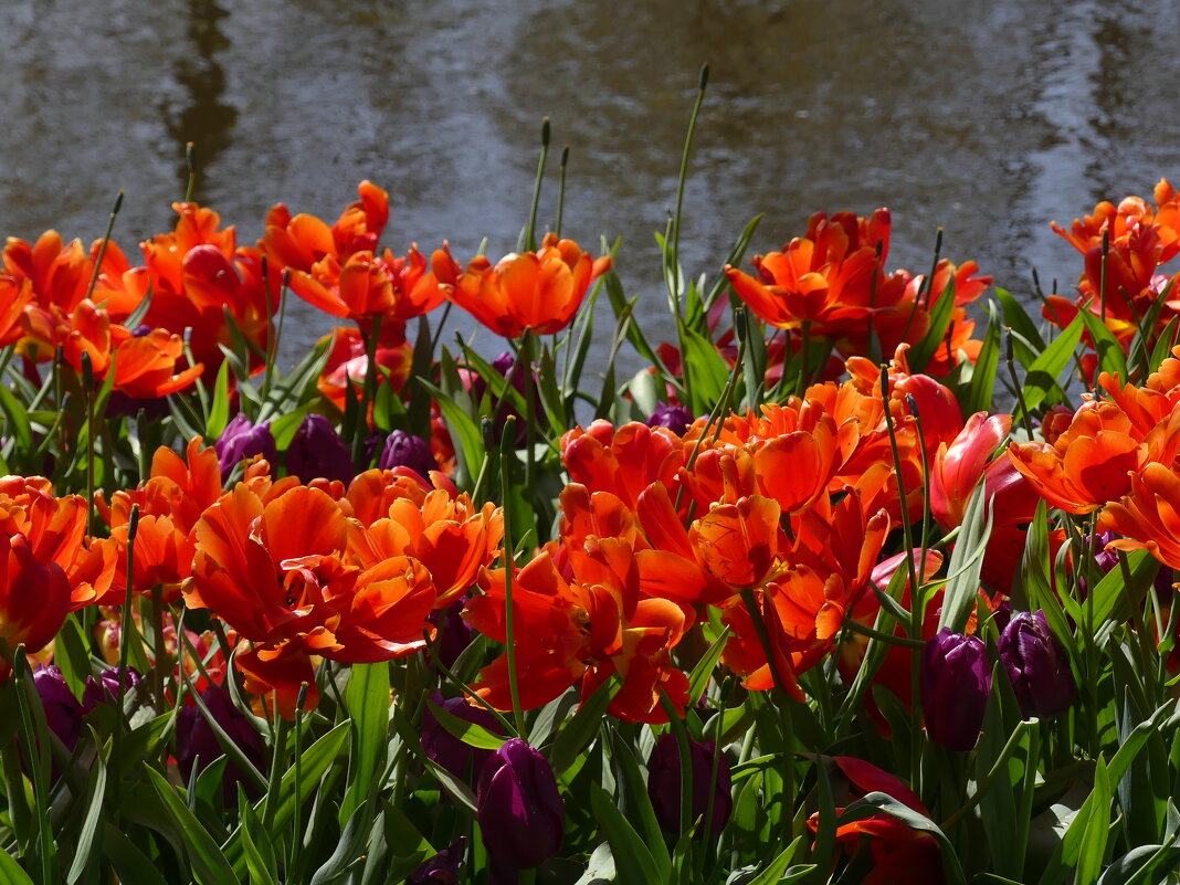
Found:
[[(722, 753), (720, 767), (713, 768), (714, 745), (712, 741), (701, 743), (689, 739), (688, 750), (693, 761), (693, 821), (704, 819), (713, 796), (713, 818), (709, 833), (716, 835), (725, 830), (734, 809), (729, 760)], [(663, 734), (656, 741), (651, 758), (648, 760), (648, 795), (656, 812), (660, 826), (673, 834), (680, 833), (680, 746), (674, 734)], [(703, 839), (702, 830), (697, 830), (694, 839)]]

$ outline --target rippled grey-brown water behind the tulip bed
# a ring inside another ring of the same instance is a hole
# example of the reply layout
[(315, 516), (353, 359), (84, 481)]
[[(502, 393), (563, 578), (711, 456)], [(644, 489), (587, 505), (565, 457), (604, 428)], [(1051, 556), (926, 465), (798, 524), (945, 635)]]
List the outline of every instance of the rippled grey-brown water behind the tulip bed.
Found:
[[(267, 208), (334, 218), (356, 182), (391, 192), (386, 242), (481, 237), (526, 219), (539, 122), (571, 145), (564, 230), (623, 237), (629, 294), (668, 334), (653, 231), (699, 65), (710, 65), (682, 245), (713, 273), (755, 214), (778, 248), (819, 209), (893, 210), (890, 264), (944, 254), (1027, 291), (1080, 262), (1048, 222), (1149, 195), (1176, 170), (1180, 9), (992, 0), (7, 0), (0, 232), (171, 227), (183, 143), (197, 198), (261, 234)], [(553, 185), (543, 199), (552, 219)], [(326, 327), (302, 312), (303, 343)]]

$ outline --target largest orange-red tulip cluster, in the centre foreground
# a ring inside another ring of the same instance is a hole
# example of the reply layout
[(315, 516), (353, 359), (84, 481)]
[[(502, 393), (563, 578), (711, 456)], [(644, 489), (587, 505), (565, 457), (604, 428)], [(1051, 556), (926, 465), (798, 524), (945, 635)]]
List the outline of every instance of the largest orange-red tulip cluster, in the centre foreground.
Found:
[[(710, 605), (732, 631), (722, 661), (746, 686), (779, 683), (801, 696), (798, 675), (832, 651), (845, 618), (876, 614), (866, 590), (903, 518), (886, 413), (919, 509), (923, 464), (963, 430), (953, 398), (911, 376), (904, 349), (893, 369), (897, 386), (923, 398), (929, 442), (906, 400), (883, 402), (879, 385), (857, 379), (817, 385), (760, 414), (730, 414), (717, 427), (697, 421), (683, 437), (605, 421), (566, 433), (573, 481), (562, 496), (560, 537), (512, 573), (522, 704), (575, 684), (586, 697), (617, 675), (614, 715), (667, 721), (661, 696), (681, 710), (688, 701), (677, 644)], [(506, 577), (485, 572), (485, 595), (464, 611), (499, 642), (509, 640)], [(504, 655), (474, 689), (506, 709), (510, 675)]]

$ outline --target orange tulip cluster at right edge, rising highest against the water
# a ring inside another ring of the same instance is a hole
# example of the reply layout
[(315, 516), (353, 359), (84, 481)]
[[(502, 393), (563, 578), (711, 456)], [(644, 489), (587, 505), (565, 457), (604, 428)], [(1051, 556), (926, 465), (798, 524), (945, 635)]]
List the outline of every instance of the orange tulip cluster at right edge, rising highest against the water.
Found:
[[(1053, 229), (1084, 256), (1086, 264), (1077, 283), (1077, 297), (1070, 301), (1050, 295), (1044, 308), (1045, 319), (1064, 327), (1079, 310), (1088, 310), (1102, 317), (1107, 328), (1127, 347), (1160, 299), (1167, 300), (1160, 308), (1156, 330), (1180, 315), (1176, 294), (1167, 294), (1175, 277), (1159, 273), (1160, 267), (1180, 253), (1180, 196), (1167, 178), (1161, 178), (1154, 197), (1155, 206), (1134, 196), (1117, 206), (1099, 203), (1093, 215), (1075, 218), (1068, 231), (1053, 223)], [(1103, 238), (1107, 240), (1104, 267)]]

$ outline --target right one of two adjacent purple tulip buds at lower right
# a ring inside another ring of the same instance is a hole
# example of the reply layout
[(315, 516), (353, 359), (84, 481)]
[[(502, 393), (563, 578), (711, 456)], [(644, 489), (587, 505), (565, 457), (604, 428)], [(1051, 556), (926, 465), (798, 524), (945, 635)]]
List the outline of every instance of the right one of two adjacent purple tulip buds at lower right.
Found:
[(1043, 611), (1012, 615), (996, 647), (1025, 719), (1051, 719), (1070, 708), (1074, 677)]

